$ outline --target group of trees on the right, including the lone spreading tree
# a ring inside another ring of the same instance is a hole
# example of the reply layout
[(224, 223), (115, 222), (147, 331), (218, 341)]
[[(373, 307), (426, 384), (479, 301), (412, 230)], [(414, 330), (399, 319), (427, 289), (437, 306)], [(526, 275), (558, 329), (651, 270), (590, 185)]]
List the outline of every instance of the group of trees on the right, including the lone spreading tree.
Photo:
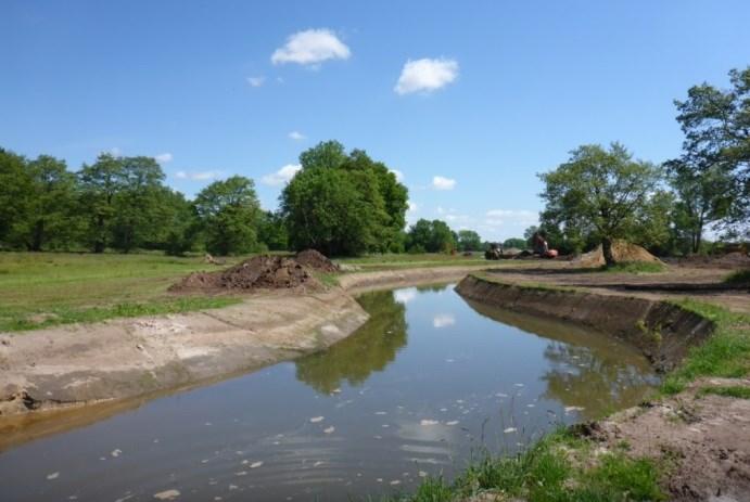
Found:
[(729, 72), (730, 89), (694, 86), (675, 101), (682, 154), (662, 165), (635, 159), (620, 143), (582, 145), (539, 175), (538, 229), (562, 253), (601, 243), (608, 263), (616, 239), (659, 255), (702, 250), (708, 228), (750, 236), (750, 67)]

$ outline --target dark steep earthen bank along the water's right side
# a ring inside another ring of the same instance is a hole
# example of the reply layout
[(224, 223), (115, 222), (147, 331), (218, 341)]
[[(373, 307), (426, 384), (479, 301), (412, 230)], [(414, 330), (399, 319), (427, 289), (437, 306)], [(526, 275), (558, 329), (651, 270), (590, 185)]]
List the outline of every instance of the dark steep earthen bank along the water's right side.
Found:
[(474, 301), (562, 319), (614, 336), (637, 348), (660, 373), (676, 368), (715, 329), (712, 321), (664, 300), (504, 283), (476, 274), (467, 275), (456, 291)]

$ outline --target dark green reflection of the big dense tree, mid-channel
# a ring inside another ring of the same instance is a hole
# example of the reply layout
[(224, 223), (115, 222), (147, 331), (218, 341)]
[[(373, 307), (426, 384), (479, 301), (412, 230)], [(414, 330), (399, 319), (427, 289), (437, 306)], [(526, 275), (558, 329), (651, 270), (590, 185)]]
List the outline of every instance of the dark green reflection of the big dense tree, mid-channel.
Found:
[(297, 379), (319, 392), (331, 394), (344, 381), (361, 385), (406, 346), (406, 306), (395, 300), (392, 291), (367, 293), (357, 300), (370, 314), (359, 330), (322, 352), (295, 361)]

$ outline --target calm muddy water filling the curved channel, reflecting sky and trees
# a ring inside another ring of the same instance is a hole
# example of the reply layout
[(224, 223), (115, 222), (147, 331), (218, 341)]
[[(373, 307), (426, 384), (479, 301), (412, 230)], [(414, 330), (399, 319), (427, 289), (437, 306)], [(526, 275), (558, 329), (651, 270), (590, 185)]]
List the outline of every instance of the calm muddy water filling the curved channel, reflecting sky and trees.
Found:
[(614, 339), (452, 286), (360, 303), (371, 319), (323, 352), (0, 453), (0, 500), (377, 498), (634, 406), (658, 384)]

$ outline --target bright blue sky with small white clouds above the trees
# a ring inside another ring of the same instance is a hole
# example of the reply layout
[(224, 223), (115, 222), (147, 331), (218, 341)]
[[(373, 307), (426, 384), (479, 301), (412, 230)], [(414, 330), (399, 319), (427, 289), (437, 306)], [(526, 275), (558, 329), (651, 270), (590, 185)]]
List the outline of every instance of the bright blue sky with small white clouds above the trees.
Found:
[(675, 156), (672, 101), (750, 64), (740, 0), (1, 4), (3, 147), (160, 155), (188, 195), (239, 173), (275, 208), (300, 152), (336, 139), (403, 173), (410, 221), (493, 240), (580, 144)]

